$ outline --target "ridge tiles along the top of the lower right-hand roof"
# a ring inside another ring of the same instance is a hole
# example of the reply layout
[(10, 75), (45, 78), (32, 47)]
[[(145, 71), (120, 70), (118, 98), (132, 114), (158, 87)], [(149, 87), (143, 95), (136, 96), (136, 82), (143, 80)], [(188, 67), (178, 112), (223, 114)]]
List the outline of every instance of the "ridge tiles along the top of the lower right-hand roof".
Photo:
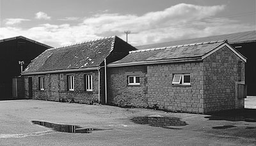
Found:
[(188, 47), (188, 46), (205, 45), (205, 44), (211, 44), (211, 43), (221, 43), (221, 42), (227, 42), (227, 40), (205, 41), (205, 42), (200, 42), (200, 43), (190, 43), (190, 44), (175, 45), (175, 46), (160, 47), (160, 48), (147, 48), (147, 49), (143, 49), (143, 50), (129, 51), (129, 54), (136, 53), (136, 52), (145, 52), (145, 51), (150, 51), (150, 50), (163, 50), (166, 48)]

